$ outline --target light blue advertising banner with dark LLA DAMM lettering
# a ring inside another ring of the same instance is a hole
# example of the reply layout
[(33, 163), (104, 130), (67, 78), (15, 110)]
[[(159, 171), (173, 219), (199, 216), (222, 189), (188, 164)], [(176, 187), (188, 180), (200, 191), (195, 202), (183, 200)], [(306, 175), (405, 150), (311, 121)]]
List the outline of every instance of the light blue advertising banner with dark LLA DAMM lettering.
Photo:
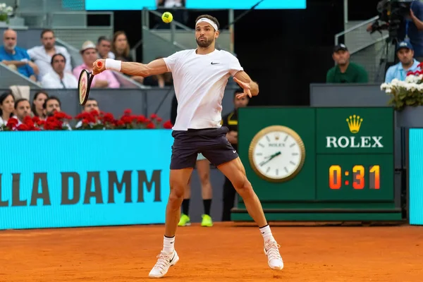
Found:
[(164, 223), (171, 130), (1, 133), (0, 229)]

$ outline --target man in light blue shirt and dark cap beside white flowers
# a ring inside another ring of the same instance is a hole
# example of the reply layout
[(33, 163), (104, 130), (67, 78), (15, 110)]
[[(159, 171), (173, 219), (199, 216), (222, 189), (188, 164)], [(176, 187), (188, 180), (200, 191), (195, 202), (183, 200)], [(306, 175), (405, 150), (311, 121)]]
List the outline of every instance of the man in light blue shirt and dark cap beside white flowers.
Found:
[(397, 46), (396, 54), (400, 62), (388, 68), (385, 76), (386, 83), (391, 82), (394, 78), (405, 81), (409, 71), (419, 70), (420, 62), (414, 59), (414, 49), (410, 42), (400, 42)]

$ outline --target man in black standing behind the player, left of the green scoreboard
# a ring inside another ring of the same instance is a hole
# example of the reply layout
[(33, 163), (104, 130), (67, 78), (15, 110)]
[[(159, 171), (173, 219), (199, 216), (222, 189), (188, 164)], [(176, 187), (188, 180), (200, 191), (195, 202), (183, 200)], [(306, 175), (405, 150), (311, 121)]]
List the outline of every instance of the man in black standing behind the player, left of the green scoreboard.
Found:
[[(233, 149), (238, 151), (238, 109), (247, 106), (250, 99), (243, 97), (236, 99), (236, 95), (243, 93), (243, 90), (235, 90), (233, 94), (233, 104), (235, 109), (231, 113), (223, 116), (221, 124), (226, 126), (229, 131), (226, 133), (226, 138), (231, 142)], [(231, 221), (231, 209), (235, 204), (235, 188), (231, 181), (225, 177), (225, 183), (223, 184), (223, 213), (222, 221)]]

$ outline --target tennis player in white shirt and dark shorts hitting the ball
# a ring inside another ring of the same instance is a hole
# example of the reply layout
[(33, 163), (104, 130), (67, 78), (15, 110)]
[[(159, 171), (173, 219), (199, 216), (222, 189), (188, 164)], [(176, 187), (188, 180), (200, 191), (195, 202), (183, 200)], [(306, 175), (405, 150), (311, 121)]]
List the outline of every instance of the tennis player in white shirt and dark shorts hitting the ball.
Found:
[(102, 68), (93, 64), (93, 73), (109, 69), (128, 75), (159, 75), (171, 72), (178, 99), (178, 116), (173, 126), (170, 186), (171, 192), (166, 207), (166, 223), (163, 249), (157, 263), (149, 273), (151, 278), (163, 277), (170, 266), (178, 262), (175, 250), (175, 233), (180, 219), (180, 205), (184, 189), (195, 166), (197, 154), (202, 153), (233, 183), (243, 197), (248, 213), (259, 226), (264, 238), (264, 253), (271, 269), (283, 269), (278, 243), (266, 221), (262, 204), (247, 180), (245, 169), (237, 152), (226, 139), (228, 128), (221, 127), (221, 100), (228, 82), (233, 80), (243, 88), (238, 98), (256, 96), (259, 87), (245, 73), (235, 56), (227, 51), (215, 49), (219, 37), (219, 22), (209, 15), (195, 21), (197, 49), (178, 51), (164, 59), (148, 64), (100, 59)]

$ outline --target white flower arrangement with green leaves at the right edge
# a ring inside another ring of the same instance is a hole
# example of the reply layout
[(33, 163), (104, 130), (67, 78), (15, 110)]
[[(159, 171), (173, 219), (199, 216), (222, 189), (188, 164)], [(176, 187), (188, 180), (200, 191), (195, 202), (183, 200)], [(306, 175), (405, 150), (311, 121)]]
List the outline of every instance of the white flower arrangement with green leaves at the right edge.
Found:
[[(423, 63), (419, 64), (419, 68)], [(381, 90), (391, 96), (388, 102), (396, 110), (405, 106), (423, 106), (423, 71), (408, 72), (405, 81), (394, 78), (390, 83), (382, 83)]]

